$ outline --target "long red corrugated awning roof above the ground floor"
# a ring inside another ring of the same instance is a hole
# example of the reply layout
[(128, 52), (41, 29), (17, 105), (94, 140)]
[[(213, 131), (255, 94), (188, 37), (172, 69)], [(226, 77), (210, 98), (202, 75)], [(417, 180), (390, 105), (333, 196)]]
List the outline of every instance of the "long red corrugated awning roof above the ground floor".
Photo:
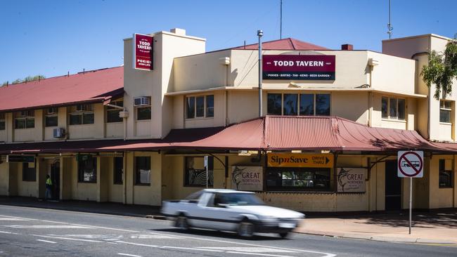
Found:
[(416, 131), (371, 128), (340, 117), (266, 116), (226, 128), (175, 129), (160, 140), (96, 140), (0, 145), (11, 152), (115, 152), (124, 150), (331, 150), (457, 152)]

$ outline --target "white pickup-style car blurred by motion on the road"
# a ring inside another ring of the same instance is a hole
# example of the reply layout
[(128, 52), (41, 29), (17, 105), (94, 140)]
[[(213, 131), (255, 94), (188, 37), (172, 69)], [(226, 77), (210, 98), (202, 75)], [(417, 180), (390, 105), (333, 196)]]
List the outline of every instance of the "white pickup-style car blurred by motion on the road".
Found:
[(161, 212), (183, 230), (235, 231), (241, 237), (252, 237), (255, 232), (287, 237), (304, 218), (297, 211), (266, 206), (252, 192), (222, 189), (201, 190), (184, 200), (164, 201)]

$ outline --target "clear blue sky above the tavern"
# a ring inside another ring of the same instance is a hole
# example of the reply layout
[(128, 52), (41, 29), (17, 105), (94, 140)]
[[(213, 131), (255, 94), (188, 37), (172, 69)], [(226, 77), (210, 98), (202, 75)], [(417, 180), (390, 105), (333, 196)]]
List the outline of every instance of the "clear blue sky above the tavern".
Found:
[[(0, 83), (122, 65), (122, 39), (186, 29), (207, 51), (279, 39), (280, 0), (0, 1)], [(393, 37), (457, 33), (455, 0), (392, 0)], [(381, 50), (388, 0), (283, 0), (283, 38)]]

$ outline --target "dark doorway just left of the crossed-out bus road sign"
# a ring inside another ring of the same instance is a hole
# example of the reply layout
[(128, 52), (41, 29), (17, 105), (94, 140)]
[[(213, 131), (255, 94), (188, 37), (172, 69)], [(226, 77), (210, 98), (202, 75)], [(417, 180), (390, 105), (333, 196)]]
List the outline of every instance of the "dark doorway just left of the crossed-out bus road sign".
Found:
[(401, 210), (401, 178), (397, 176), (397, 160), (385, 162), (385, 210)]

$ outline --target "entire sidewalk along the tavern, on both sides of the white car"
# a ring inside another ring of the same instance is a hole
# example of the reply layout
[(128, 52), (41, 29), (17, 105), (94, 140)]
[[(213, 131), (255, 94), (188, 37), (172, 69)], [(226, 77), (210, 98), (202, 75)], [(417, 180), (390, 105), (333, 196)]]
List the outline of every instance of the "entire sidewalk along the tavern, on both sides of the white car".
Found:
[[(0, 197), (0, 209), (2, 205), (143, 218), (162, 217), (158, 206), (106, 202), (74, 200), (44, 202), (34, 197)], [(330, 218), (308, 216), (295, 232), (385, 242), (455, 244), (457, 246), (457, 209), (413, 213), (411, 235), (408, 235), (408, 213), (370, 213)]]

